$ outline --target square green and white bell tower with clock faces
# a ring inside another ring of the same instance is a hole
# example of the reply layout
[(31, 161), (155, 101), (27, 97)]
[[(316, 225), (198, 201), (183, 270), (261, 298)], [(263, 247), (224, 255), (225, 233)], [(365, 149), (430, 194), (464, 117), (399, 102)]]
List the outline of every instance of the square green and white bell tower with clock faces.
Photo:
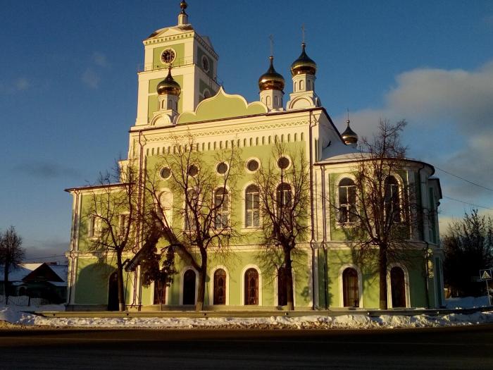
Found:
[(187, 7), (187, 2), (182, 0), (177, 25), (156, 30), (144, 39), (144, 64), (138, 73), (136, 126), (153, 124), (154, 113), (160, 110), (157, 87), (170, 67), (173, 67), (173, 79), (181, 87), (177, 114), (194, 111), (200, 101), (219, 90), (218, 54), (211, 40), (199, 35), (189, 23)]

